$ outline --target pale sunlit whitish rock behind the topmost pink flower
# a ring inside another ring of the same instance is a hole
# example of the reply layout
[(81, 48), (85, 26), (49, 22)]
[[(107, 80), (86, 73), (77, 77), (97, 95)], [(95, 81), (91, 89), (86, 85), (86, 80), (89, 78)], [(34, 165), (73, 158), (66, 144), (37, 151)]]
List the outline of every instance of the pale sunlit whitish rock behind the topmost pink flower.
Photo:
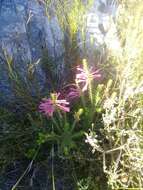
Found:
[[(109, 48), (109, 39), (117, 39), (116, 35), (116, 12), (118, 5), (112, 0), (94, 0), (92, 7), (88, 10), (85, 15), (85, 39), (84, 43), (81, 33), (79, 33), (79, 48), (82, 55), (88, 57), (89, 62), (95, 64), (97, 54), (95, 51), (99, 51), (102, 56), (105, 56), (105, 45)], [(101, 55), (99, 55), (101, 57)]]

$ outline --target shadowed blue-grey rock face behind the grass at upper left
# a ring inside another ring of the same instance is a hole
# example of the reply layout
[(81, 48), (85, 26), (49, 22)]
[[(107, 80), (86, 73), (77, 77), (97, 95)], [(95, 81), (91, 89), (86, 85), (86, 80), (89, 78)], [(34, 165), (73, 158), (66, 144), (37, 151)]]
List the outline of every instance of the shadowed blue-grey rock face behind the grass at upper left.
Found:
[[(43, 50), (63, 64), (63, 32), (56, 17), (48, 19), (43, 3), (37, 0), (0, 1), (0, 95), (11, 96), (4, 51), (13, 58), (14, 67), (25, 78), (30, 64), (37, 63)], [(41, 88), (46, 76), (41, 63), (33, 64)], [(4, 98), (5, 99), (5, 98)]]

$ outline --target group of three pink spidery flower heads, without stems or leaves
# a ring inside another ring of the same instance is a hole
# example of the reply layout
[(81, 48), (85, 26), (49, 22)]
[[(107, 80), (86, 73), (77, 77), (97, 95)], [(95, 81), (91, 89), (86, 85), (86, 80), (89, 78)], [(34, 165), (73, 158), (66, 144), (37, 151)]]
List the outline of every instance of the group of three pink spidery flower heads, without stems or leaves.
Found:
[(70, 86), (66, 94), (56, 92), (52, 93), (50, 98), (43, 99), (39, 105), (39, 112), (49, 117), (52, 117), (56, 110), (69, 112), (70, 101), (79, 98), (81, 93), (88, 90), (88, 85), (91, 81), (99, 78), (101, 78), (99, 70), (93, 68), (88, 69), (87, 65), (84, 64), (83, 67), (78, 66), (75, 84)]

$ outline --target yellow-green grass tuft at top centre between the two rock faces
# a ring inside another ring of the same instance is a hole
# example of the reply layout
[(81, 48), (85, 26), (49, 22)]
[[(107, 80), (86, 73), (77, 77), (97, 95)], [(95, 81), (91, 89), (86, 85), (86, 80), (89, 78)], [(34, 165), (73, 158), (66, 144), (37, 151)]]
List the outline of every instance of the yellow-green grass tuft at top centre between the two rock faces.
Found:
[[(49, 1), (48, 5), (50, 3)], [(83, 26), (85, 13), (92, 3), (93, 0), (88, 0), (86, 3), (82, 0), (56, 1), (56, 15), (59, 23), (64, 30), (68, 28), (71, 37)]]

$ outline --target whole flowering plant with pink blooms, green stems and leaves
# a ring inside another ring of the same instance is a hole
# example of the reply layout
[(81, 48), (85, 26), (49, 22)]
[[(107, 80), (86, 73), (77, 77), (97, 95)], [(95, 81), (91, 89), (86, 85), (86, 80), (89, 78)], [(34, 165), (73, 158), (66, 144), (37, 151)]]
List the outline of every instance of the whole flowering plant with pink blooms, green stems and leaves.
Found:
[[(76, 148), (76, 139), (82, 139), (84, 137), (84, 132), (88, 130), (88, 126), (83, 125), (82, 128), (80, 127), (80, 122), (82, 122), (80, 121), (80, 117), (85, 115), (86, 118), (88, 117), (89, 123), (93, 120), (95, 111), (93, 108), (93, 102), (91, 102), (90, 99), (92, 94), (89, 95), (89, 97), (86, 97), (86, 91), (88, 92), (88, 89), (91, 88), (92, 82), (97, 79), (99, 80), (99, 78), (101, 78), (100, 71), (94, 70), (93, 68), (89, 69), (86, 60), (83, 60), (83, 65), (77, 67), (75, 84), (67, 85), (67, 92), (63, 93), (61, 91), (58, 93), (51, 93), (50, 98), (44, 98), (40, 102), (39, 112), (48, 116), (49, 119), (51, 118), (52, 120), (54, 128), (51, 127), (50, 137), (53, 137), (53, 140), (57, 141), (60, 145), (60, 149), (62, 147), (63, 150), (64, 147), (64, 154), (69, 153), (71, 148)], [(78, 111), (73, 113), (73, 100), (79, 101), (79, 99), (81, 99), (81, 104), (79, 104), (77, 108)], [(86, 102), (89, 104), (89, 109), (87, 109)], [(57, 113), (53, 114), (54, 112)], [(71, 113), (66, 115), (66, 112)], [(73, 121), (71, 121), (71, 117), (73, 118)], [(47, 137), (49, 137), (49, 135)], [(45, 138), (45, 141), (47, 140), (48, 138)]]

